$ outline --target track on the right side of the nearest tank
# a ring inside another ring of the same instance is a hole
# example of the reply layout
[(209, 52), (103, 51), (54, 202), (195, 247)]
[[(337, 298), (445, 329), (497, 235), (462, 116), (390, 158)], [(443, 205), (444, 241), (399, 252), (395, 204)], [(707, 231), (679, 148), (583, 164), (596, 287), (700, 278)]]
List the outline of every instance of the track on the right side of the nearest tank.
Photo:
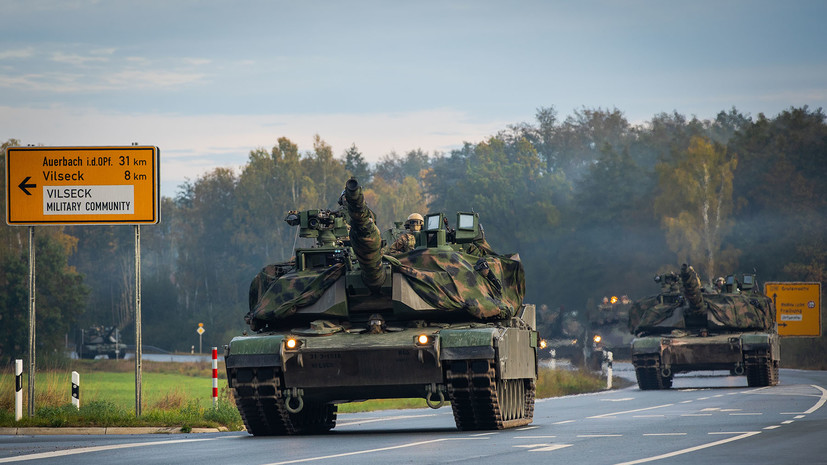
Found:
[(513, 428), (530, 424), (534, 418), (535, 381), (498, 379), (493, 360), (452, 361), (446, 381), (460, 430)]

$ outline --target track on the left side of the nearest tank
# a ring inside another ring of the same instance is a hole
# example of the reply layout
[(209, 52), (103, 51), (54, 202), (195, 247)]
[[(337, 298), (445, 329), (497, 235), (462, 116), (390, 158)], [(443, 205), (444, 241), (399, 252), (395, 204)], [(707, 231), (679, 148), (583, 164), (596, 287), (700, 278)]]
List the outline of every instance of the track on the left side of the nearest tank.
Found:
[(287, 410), (281, 370), (275, 367), (238, 368), (233, 397), (247, 432), (254, 436), (319, 434), (336, 426), (336, 405), (305, 400), (298, 413)]

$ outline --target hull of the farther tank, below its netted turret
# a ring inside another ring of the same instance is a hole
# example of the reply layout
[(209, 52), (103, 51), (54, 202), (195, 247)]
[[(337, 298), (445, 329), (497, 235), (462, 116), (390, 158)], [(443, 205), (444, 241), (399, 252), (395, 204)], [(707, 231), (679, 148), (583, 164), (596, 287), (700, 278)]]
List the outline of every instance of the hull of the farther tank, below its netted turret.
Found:
[(632, 363), (641, 389), (665, 389), (676, 373), (728, 370), (750, 386), (778, 383), (779, 340), (775, 333), (653, 335), (631, 343)]

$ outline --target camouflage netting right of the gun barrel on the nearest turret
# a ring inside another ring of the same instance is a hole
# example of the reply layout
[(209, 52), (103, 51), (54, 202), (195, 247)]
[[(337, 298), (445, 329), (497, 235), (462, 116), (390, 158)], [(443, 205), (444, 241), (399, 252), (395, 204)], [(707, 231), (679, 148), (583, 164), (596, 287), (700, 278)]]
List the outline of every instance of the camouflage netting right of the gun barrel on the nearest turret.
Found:
[[(446, 311), (477, 318), (508, 319), (525, 296), (525, 272), (519, 255), (478, 257), (461, 252), (419, 249), (397, 259), (386, 257), (424, 301)], [(477, 271), (487, 265), (488, 276)]]

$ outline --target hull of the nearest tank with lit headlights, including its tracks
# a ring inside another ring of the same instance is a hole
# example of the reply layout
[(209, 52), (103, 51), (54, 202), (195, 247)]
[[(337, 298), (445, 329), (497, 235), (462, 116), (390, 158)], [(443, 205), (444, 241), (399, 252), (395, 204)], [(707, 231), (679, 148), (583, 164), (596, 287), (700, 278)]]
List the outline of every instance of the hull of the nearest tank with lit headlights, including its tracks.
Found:
[[(286, 348), (291, 338), (296, 349)], [(425, 398), (432, 408), (451, 401), (465, 430), (533, 418), (537, 333), (527, 326), (256, 334), (234, 338), (226, 351), (229, 385), (255, 435), (324, 432), (335, 426), (336, 404), (368, 399)]]

